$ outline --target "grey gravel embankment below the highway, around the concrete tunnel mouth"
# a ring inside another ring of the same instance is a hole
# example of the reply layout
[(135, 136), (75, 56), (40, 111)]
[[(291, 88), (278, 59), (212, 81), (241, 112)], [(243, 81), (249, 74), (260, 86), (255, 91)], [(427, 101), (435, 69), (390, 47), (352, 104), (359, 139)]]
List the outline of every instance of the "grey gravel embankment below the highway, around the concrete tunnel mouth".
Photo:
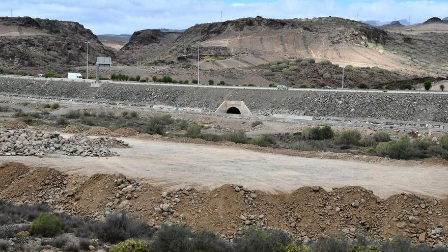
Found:
[(338, 93), (248, 89), (205, 89), (106, 83), (0, 78), (0, 92), (64, 97), (100, 102), (127, 102), (197, 107), (213, 111), (223, 100), (242, 100), (258, 115), (448, 122), (448, 96), (437, 94)]

